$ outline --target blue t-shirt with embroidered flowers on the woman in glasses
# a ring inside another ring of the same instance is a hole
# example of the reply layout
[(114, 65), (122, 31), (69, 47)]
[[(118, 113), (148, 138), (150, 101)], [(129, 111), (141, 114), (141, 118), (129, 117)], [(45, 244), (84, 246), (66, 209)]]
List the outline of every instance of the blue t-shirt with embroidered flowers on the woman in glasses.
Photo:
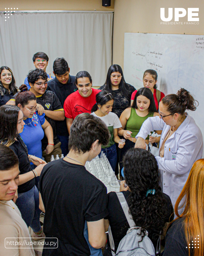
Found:
[[(36, 111), (32, 118), (24, 120), (24, 129), (20, 134), (23, 142), (28, 148), (29, 155), (35, 155), (36, 157), (42, 157), (42, 143), (41, 139), (44, 137), (44, 131), (41, 125), (45, 122), (45, 114), (38, 115)], [(32, 165), (33, 163), (31, 163)]]

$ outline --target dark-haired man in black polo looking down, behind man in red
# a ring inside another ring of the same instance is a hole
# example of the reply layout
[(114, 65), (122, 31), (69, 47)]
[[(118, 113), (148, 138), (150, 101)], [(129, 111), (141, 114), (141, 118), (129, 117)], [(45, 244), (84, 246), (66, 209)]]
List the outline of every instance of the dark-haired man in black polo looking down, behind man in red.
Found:
[[(70, 75), (70, 68), (64, 58), (57, 58), (53, 63), (53, 73), (55, 78), (48, 82), (47, 90), (53, 91), (62, 106), (64, 106), (65, 99), (71, 94), (77, 91), (75, 84), (75, 76)], [(66, 119), (63, 121), (56, 121), (57, 137), (61, 142), (62, 154), (67, 155), (69, 133), (67, 130)]]

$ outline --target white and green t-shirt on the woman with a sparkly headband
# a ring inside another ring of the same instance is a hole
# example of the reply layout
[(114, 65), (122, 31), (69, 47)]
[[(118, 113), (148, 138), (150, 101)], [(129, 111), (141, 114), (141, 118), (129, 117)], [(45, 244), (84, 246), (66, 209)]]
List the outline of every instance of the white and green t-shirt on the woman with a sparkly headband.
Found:
[[(95, 117), (98, 117), (94, 112), (91, 113), (91, 115), (94, 115)], [(103, 149), (112, 146), (113, 144), (115, 144), (114, 142), (114, 134), (113, 134), (113, 129), (116, 128), (120, 128), (122, 127), (120, 119), (118, 118), (118, 116), (113, 113), (113, 112), (109, 112), (108, 115), (105, 115), (104, 117), (98, 117), (100, 118), (108, 127), (108, 130), (111, 134), (111, 138), (109, 139), (109, 143), (106, 147), (102, 146)]]

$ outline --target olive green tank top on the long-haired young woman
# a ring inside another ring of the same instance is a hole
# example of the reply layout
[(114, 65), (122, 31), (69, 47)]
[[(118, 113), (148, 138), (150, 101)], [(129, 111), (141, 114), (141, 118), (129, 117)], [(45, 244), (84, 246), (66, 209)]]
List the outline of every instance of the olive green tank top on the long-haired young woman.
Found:
[[(127, 120), (125, 130), (131, 131), (132, 132), (131, 135), (134, 138), (139, 133), (139, 130), (142, 127), (142, 124), (145, 122), (145, 120), (148, 117), (153, 117), (153, 116), (154, 116), (154, 112), (149, 112), (148, 115), (146, 115), (145, 117), (139, 117), (135, 109), (131, 107), (130, 117)], [(149, 139), (149, 135), (147, 136), (146, 139)]]

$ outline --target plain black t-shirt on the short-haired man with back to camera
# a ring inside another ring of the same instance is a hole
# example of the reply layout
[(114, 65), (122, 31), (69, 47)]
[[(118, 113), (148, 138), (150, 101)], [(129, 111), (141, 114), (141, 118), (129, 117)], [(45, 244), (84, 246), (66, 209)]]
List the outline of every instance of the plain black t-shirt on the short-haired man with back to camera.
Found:
[(108, 215), (105, 185), (84, 166), (58, 159), (44, 166), (38, 187), (45, 207), (43, 231), (58, 238), (58, 248), (43, 255), (90, 255), (84, 223)]

